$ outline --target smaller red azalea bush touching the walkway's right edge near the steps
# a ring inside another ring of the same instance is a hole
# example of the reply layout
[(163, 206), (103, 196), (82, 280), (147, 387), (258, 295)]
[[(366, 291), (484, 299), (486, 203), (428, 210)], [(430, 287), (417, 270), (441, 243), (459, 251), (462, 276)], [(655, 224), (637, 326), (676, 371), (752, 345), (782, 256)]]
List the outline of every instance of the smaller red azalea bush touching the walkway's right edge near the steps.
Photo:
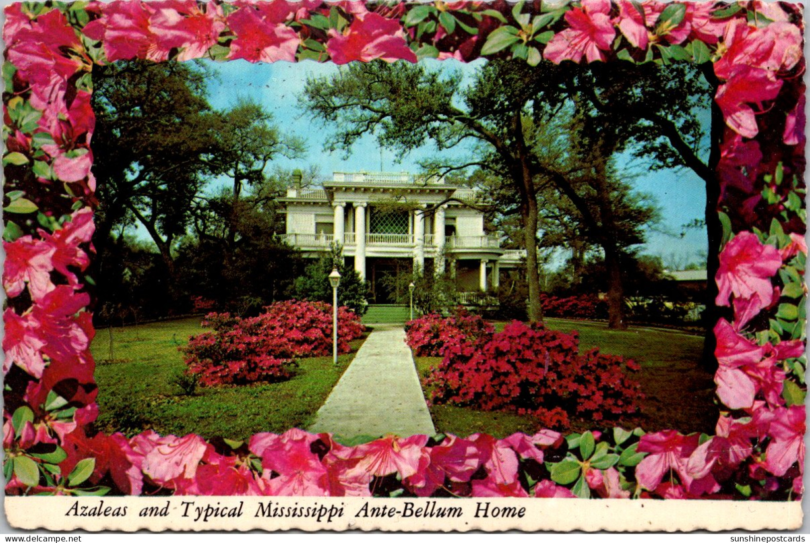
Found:
[(475, 343), (493, 332), (492, 325), (480, 315), (473, 315), (463, 308), (458, 308), (449, 317), (431, 313), (405, 325), (406, 342), (416, 356), (441, 356), (445, 346), (456, 339)]

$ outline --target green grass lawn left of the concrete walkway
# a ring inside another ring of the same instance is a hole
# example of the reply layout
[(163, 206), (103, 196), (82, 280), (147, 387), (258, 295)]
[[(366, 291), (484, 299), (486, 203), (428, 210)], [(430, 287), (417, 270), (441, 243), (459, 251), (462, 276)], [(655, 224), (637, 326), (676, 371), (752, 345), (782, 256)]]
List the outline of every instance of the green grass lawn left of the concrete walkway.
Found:
[(245, 439), (261, 431), (279, 433), (306, 427), (367, 337), (352, 341), (352, 352), (340, 355), (337, 367), (330, 356), (302, 358), (291, 380), (198, 387), (189, 396), (173, 383), (185, 369), (177, 347), (202, 331), (199, 318), (99, 329), (92, 353), (99, 385), (100, 429), (127, 435), (152, 429), (162, 435), (195, 433), (207, 439)]

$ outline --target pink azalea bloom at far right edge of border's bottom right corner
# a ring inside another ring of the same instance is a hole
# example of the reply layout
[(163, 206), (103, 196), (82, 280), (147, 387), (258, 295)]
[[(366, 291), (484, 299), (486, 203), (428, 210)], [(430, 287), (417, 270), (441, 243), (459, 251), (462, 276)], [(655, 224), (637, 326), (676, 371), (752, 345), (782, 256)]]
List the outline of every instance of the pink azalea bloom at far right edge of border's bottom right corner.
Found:
[(804, 405), (774, 410), (768, 432), (771, 442), (765, 451), (765, 468), (770, 473), (782, 477), (794, 462), (799, 462), (799, 471), (804, 473), (805, 417)]

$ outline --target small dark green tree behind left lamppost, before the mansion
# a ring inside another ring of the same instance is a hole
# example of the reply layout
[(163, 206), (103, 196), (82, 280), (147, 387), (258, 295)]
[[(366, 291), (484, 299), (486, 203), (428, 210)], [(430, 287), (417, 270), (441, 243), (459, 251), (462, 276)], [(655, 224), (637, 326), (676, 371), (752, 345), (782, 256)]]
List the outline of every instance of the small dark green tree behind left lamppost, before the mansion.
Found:
[(332, 287), (329, 274), (337, 268), (340, 274), (338, 303), (346, 306), (357, 315), (363, 315), (369, 308), (369, 285), (360, 274), (343, 259), (343, 248), (332, 244), (330, 253), (308, 265), (304, 274), (296, 278), (292, 295), (298, 299), (332, 303)]

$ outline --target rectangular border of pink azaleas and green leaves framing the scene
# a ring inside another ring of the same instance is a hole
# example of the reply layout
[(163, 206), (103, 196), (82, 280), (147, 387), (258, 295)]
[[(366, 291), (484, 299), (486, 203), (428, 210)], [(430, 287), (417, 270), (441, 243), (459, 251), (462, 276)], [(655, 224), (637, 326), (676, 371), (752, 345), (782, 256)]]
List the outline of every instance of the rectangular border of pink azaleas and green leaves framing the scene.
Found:
[[(804, 23), (800, 6), (645, 0), (17, 3), (6, 8), (7, 494), (794, 499), (804, 465)], [(345, 446), (92, 433), (92, 66), (211, 57), (345, 63), (521, 57), (712, 62), (726, 123), (716, 435), (616, 428)], [(551, 462), (544, 466), (543, 462)], [(624, 485), (622, 483), (625, 483)]]

